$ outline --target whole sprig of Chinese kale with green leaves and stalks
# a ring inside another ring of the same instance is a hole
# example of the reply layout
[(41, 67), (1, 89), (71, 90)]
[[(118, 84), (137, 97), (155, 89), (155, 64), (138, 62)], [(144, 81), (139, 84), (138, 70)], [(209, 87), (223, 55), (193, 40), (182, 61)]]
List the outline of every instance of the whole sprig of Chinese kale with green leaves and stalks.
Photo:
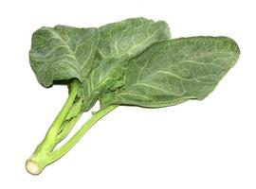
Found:
[[(45, 139), (27, 160), (27, 171), (40, 174), (120, 105), (159, 108), (204, 99), (239, 54), (238, 45), (228, 37), (171, 40), (165, 22), (145, 18), (99, 28), (41, 27), (32, 36), (32, 70), (44, 87), (67, 83), (69, 95)], [(98, 100), (99, 112), (55, 149), (82, 112)]]

